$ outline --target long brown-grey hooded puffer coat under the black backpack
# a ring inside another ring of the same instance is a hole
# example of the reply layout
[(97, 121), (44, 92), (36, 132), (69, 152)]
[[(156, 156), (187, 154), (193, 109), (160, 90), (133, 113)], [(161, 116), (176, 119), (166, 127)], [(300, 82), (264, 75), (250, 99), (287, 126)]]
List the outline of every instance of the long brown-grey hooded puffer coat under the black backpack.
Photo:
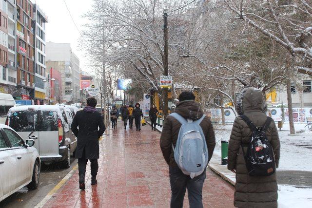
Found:
[[(265, 100), (262, 91), (248, 88), (243, 95), (238, 96), (237, 105), (239, 114), (246, 115), (254, 125), (263, 126), (265, 114)], [(229, 141), (228, 169), (236, 170), (236, 184), (234, 206), (239, 208), (276, 208), (277, 183), (276, 174), (270, 176), (249, 176), (242, 151), (242, 144), (248, 144), (252, 131), (240, 118), (236, 117)], [(273, 147), (276, 167), (279, 161), (280, 142), (274, 121), (266, 131), (266, 135)], [(247, 147), (244, 146), (247, 151)]]

